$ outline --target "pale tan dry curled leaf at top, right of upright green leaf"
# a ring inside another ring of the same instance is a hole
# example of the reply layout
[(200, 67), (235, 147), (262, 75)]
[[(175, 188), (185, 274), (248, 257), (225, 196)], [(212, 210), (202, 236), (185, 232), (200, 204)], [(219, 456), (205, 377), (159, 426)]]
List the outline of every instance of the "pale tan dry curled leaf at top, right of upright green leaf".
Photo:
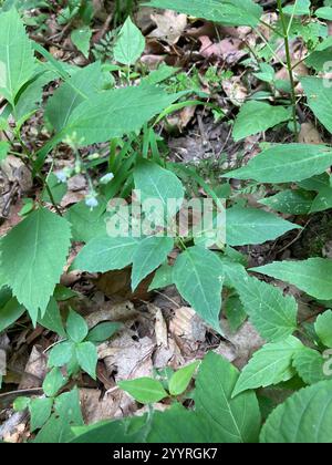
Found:
[(157, 29), (151, 32), (151, 38), (162, 39), (169, 45), (175, 45), (187, 27), (187, 16), (166, 10), (162, 14), (152, 14)]

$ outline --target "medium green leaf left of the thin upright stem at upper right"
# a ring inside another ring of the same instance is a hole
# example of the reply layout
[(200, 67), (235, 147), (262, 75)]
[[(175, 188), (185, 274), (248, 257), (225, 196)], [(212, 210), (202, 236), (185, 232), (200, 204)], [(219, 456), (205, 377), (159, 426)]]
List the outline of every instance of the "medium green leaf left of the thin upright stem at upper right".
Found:
[(277, 124), (290, 120), (290, 110), (283, 106), (272, 106), (264, 102), (250, 101), (241, 107), (234, 125), (232, 136), (235, 141), (240, 141), (274, 127)]

